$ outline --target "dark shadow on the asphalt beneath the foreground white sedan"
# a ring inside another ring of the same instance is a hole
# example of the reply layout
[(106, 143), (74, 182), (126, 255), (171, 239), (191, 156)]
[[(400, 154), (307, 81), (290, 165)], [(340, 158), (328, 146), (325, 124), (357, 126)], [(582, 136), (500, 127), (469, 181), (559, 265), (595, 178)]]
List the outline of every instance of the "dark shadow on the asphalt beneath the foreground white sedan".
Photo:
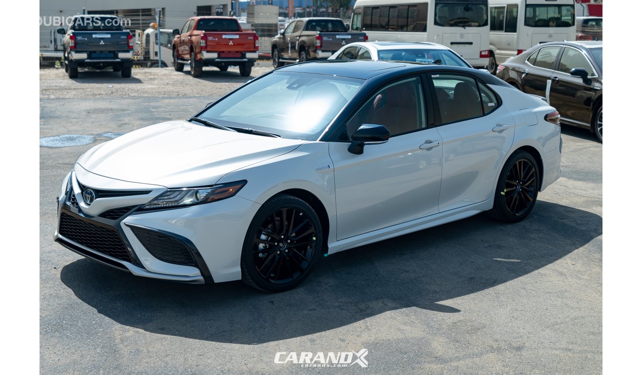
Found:
[(333, 254), (302, 285), (280, 294), (240, 281), (184, 285), (137, 278), (87, 259), (66, 265), (60, 278), (80, 300), (125, 326), (261, 344), (413, 306), (458, 313), (456, 302), (442, 301), (524, 276), (601, 234), (600, 216), (539, 201), (517, 224), (476, 215)]

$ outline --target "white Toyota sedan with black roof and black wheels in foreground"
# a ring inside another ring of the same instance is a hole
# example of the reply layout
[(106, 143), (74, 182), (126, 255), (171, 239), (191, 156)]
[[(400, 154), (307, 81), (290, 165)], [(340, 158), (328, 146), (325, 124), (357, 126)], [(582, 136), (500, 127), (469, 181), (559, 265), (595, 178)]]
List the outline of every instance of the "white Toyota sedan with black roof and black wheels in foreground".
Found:
[(279, 292), (323, 255), (480, 212), (521, 221), (561, 151), (555, 108), (485, 72), (288, 65), (82, 154), (55, 240), (137, 276)]

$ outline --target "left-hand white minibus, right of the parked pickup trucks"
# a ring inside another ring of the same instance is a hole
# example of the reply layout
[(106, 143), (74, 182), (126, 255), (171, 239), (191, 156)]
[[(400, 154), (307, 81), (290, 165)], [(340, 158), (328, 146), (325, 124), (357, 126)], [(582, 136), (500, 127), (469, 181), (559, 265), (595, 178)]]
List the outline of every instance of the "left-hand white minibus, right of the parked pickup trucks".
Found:
[(489, 0), (357, 0), (351, 30), (371, 42), (432, 42), (476, 68), (488, 65)]

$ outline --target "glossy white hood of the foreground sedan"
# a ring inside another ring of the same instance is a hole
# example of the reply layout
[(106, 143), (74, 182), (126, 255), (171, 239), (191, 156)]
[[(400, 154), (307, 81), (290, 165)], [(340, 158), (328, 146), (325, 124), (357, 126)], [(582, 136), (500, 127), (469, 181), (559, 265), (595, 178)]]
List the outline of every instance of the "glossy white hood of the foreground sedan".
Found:
[(213, 185), (231, 171), (289, 153), (305, 142), (169, 121), (93, 147), (77, 163), (108, 178), (196, 187)]

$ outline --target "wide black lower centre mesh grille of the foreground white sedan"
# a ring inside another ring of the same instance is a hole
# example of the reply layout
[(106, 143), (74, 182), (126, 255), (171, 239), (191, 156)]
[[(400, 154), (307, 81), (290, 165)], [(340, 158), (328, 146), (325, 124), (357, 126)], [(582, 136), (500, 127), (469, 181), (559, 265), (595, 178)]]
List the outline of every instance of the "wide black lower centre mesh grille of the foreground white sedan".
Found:
[(63, 212), (60, 214), (59, 232), (64, 237), (94, 251), (125, 262), (132, 261), (123, 240), (114, 229), (91, 224)]

